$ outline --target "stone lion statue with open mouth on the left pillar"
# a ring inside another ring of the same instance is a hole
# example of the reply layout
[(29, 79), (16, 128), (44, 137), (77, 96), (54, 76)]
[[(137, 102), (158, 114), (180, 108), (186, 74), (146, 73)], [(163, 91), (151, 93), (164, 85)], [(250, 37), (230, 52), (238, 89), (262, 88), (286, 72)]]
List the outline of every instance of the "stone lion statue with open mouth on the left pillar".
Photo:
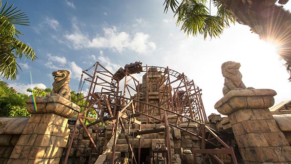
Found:
[(52, 95), (60, 95), (71, 101), (70, 72), (58, 70), (52, 73), (54, 76)]

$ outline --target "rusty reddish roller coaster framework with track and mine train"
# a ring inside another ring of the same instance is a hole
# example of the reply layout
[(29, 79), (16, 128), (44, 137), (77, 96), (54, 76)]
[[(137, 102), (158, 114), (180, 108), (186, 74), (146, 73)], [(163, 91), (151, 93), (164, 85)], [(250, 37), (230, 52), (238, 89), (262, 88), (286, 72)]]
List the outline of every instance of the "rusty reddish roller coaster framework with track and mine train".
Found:
[[(141, 85), (133, 76), (133, 74), (140, 72), (146, 73), (143, 76), (143, 78), (146, 78), (146, 84)], [(161, 74), (161, 78), (158, 81), (158, 105), (150, 104), (149, 72)], [(113, 74), (106, 67), (96, 62), (89, 69), (82, 71), (78, 92), (81, 91), (81, 88), (85, 88), (85, 84), (88, 87), (88, 94), (81, 99), (85, 99), (86, 103), (81, 106), (83, 111), (77, 116), (76, 124), (73, 127), (65, 163), (68, 161), (74, 135), (79, 124), (88, 134), (98, 154), (102, 152), (97, 149), (95, 140), (103, 132), (100, 130), (100, 126), (112, 125), (114, 137), (112, 156), (114, 157), (118, 127), (119, 129), (121, 127), (121, 131), (126, 132), (123, 120), (129, 121), (130, 124), (134, 123), (139, 127), (139, 130), (141, 124), (149, 124), (150, 121), (163, 123), (164, 128), (156, 129), (153, 133), (165, 132), (165, 146), (168, 148), (167, 163), (172, 163), (171, 149), (169, 149), (169, 128), (171, 127), (178, 128), (180, 131), (199, 138), (201, 149), (193, 149), (194, 156), (195, 153), (201, 153), (205, 160), (206, 158), (212, 158), (218, 163), (223, 163), (217, 154), (228, 154), (232, 159), (232, 163), (237, 163), (233, 147), (225, 143), (224, 137), (220, 133), (204, 124), (207, 122), (207, 117), (201, 99), (201, 89), (184, 73), (179, 73), (168, 67), (142, 67), (140, 62), (136, 62), (126, 65), (124, 69), (119, 68)], [(176, 121), (174, 123), (168, 121), (169, 115), (175, 115)], [(139, 119), (140, 117), (142, 120)], [(198, 125), (198, 133), (194, 133), (193, 127), (190, 126), (193, 124)], [(88, 128), (92, 128), (97, 132), (96, 138), (92, 138)], [(137, 131), (131, 136), (136, 137), (142, 134), (142, 131)], [(127, 136), (126, 140), (129, 151), (132, 153), (132, 163), (140, 164), (140, 137), (137, 158), (133, 153), (132, 145)], [(211, 147), (207, 145), (211, 145)], [(113, 159), (111, 163), (114, 162)]]

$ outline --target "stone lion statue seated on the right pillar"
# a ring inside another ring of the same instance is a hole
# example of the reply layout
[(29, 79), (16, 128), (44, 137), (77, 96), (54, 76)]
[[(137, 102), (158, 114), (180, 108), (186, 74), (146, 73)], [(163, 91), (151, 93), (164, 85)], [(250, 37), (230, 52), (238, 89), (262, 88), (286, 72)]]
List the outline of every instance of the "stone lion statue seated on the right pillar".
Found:
[(239, 72), (240, 64), (234, 61), (226, 61), (221, 66), (222, 76), (224, 79), (224, 87), (222, 89), (223, 95), (228, 93), (231, 90), (239, 89), (253, 89), (246, 88), (242, 83), (242, 74)]

